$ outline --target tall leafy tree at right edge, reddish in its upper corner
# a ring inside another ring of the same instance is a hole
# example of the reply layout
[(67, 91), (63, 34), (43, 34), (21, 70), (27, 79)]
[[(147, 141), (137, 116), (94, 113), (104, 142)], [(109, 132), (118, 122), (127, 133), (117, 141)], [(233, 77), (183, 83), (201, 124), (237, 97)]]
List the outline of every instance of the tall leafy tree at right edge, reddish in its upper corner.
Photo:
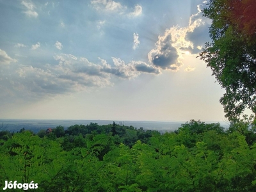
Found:
[(254, 0), (210, 0), (202, 11), (212, 20), (200, 59), (226, 92), (225, 116), (234, 120), (248, 108), (256, 114), (256, 3)]

